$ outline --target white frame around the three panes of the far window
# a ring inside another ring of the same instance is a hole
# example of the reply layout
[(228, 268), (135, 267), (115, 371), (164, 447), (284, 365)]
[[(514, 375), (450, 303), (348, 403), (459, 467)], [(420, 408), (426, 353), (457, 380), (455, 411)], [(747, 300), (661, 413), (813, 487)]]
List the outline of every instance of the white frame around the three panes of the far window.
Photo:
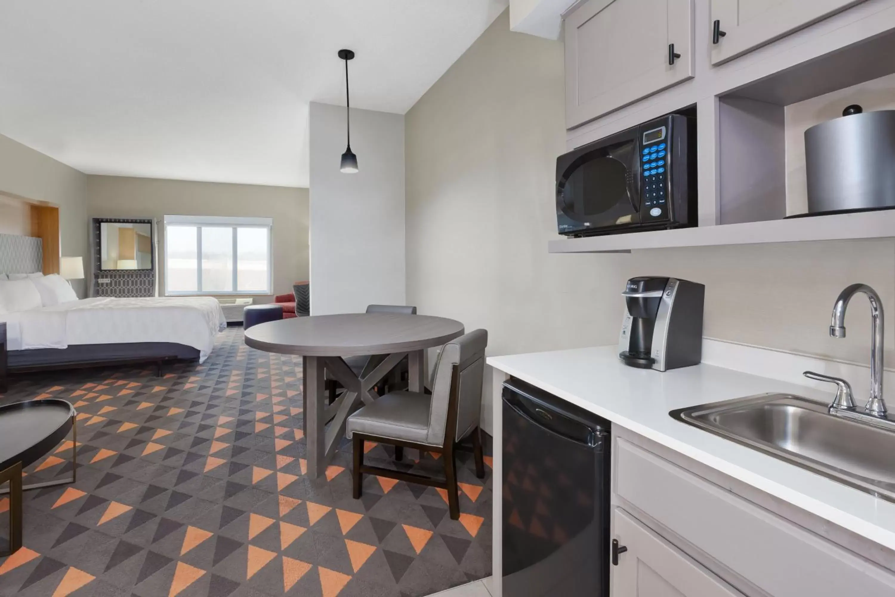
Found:
[[(220, 217), (220, 216), (165, 216), (165, 295), (166, 296), (265, 296), (272, 294), (274, 269), (273, 218), (272, 217)], [(168, 226), (192, 226), (196, 228), (196, 288), (197, 290), (169, 290), (168, 270)], [(201, 290), (202, 288), (202, 226), (230, 228), (233, 237), (233, 290)], [(267, 287), (261, 290), (237, 290), (239, 287), (239, 228), (266, 228), (268, 231), (268, 275)]]

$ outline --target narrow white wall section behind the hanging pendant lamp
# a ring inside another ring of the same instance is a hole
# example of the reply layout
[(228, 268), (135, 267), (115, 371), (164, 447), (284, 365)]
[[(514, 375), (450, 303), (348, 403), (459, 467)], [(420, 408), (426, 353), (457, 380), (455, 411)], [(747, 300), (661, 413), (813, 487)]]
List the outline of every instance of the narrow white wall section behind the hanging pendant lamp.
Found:
[(352, 108), (356, 174), (339, 171), (345, 107), (309, 118), (312, 314), (405, 304), (404, 116)]

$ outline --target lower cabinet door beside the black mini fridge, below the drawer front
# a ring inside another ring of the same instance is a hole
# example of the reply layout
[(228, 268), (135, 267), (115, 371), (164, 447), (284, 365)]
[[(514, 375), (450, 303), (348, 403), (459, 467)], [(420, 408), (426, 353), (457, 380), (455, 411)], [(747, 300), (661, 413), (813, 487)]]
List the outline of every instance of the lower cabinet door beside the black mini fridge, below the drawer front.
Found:
[(612, 597), (743, 597), (617, 507), (614, 536), (627, 548), (612, 566)]

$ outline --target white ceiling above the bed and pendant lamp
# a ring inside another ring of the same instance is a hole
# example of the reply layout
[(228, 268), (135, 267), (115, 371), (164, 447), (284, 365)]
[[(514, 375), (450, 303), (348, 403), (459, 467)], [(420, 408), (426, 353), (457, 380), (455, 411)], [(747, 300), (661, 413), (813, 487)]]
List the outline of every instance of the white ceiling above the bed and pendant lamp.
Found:
[(82, 172), (308, 185), (308, 104), (404, 114), (507, 0), (3, 0), (0, 133)]

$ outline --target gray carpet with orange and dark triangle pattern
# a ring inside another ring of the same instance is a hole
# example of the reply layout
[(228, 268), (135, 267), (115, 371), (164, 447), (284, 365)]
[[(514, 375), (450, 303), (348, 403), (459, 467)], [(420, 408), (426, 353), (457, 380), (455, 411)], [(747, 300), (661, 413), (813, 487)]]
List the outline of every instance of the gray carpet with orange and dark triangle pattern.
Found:
[[(458, 458), (459, 521), (422, 485), (368, 476), (352, 499), (347, 442), (325, 478), (303, 474), (301, 376), (300, 358), (248, 348), (228, 328), (208, 361), (162, 378), (13, 378), (4, 404), (75, 405), (79, 467), (72, 485), (25, 493), (24, 547), (0, 559), (0, 595), (415, 597), (489, 576), (490, 458), (484, 483), (471, 453)], [(70, 473), (71, 450), (69, 438), (25, 482)], [(391, 448), (367, 450), (394, 465)], [(440, 471), (439, 457), (407, 450), (404, 470)]]

